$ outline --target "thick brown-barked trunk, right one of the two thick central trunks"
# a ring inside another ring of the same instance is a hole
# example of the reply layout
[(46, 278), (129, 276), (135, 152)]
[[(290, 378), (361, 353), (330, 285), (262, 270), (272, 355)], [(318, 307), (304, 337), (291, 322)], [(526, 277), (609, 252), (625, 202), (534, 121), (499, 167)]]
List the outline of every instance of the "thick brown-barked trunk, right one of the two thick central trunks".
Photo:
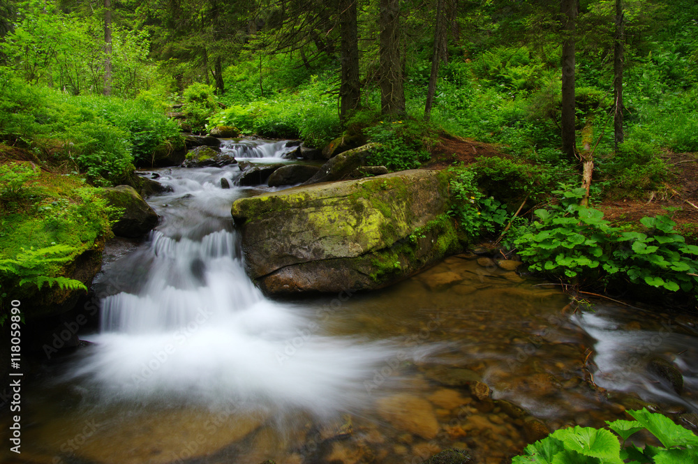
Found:
[(405, 114), (405, 91), (400, 62), (399, 0), (380, 0), (380, 113)]

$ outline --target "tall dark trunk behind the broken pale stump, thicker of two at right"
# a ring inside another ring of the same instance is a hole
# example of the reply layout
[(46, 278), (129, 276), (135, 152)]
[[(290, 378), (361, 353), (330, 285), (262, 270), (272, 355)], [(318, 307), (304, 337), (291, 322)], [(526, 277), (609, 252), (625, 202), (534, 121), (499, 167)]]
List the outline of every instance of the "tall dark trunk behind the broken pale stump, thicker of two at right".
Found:
[(574, 29), (577, 22), (577, 0), (560, 0), (560, 21), (563, 26), (562, 139), (563, 153), (574, 158), (577, 142), (574, 126)]

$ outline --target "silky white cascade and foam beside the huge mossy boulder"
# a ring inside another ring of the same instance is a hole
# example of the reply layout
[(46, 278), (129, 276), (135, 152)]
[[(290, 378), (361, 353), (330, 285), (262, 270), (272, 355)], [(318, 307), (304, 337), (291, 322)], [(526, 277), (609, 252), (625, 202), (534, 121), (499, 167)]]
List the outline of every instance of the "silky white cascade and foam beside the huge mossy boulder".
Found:
[(366, 403), (364, 382), (395, 350), (330, 336), (309, 309), (264, 297), (232, 230), (239, 193), (210, 181), (221, 172), (163, 176), (174, 191), (151, 201), (162, 223), (139, 250), (147, 282), (103, 300), (101, 333), (72, 377), (110, 400), (175, 396), (318, 414)]

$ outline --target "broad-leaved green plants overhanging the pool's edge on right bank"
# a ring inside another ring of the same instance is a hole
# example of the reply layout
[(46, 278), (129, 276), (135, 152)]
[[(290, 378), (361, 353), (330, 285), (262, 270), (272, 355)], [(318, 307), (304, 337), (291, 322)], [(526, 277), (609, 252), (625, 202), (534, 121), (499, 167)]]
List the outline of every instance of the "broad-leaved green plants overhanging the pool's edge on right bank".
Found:
[(565, 280), (607, 284), (618, 278), (698, 297), (698, 246), (685, 244), (667, 216), (640, 220), (642, 232), (613, 227), (579, 206), (583, 188), (556, 190), (559, 204), (537, 209), (533, 231), (514, 241), (529, 269)]

